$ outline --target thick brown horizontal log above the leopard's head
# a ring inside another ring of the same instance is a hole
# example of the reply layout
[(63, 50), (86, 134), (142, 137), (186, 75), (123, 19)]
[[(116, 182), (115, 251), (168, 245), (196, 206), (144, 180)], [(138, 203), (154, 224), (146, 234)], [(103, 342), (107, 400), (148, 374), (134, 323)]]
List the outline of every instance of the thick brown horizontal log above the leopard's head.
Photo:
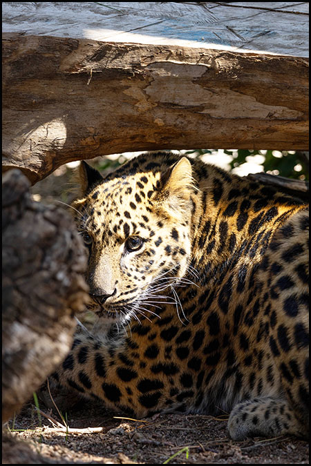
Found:
[(3, 164), (165, 148), (308, 149), (308, 59), (5, 34)]

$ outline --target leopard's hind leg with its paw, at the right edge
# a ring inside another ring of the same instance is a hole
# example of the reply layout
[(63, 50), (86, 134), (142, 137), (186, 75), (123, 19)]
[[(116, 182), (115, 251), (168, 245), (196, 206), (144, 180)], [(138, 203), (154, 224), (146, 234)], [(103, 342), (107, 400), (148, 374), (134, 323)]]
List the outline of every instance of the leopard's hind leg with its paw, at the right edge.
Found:
[(269, 329), (267, 344), (279, 395), (273, 398), (266, 392), (265, 398), (234, 407), (228, 427), (235, 440), (283, 434), (308, 437), (308, 224), (306, 212), (299, 211), (274, 233), (267, 250), (270, 266), (261, 270), (261, 282), (269, 284), (272, 300), (264, 306), (262, 325)]

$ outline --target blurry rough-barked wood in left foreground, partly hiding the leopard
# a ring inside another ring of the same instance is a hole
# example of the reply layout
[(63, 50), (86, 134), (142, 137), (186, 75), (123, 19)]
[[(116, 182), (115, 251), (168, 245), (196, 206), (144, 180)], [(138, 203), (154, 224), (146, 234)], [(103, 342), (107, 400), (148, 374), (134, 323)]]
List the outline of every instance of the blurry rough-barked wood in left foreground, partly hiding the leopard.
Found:
[(70, 215), (30, 199), (28, 179), (3, 176), (2, 420), (62, 362), (87, 300), (84, 246)]

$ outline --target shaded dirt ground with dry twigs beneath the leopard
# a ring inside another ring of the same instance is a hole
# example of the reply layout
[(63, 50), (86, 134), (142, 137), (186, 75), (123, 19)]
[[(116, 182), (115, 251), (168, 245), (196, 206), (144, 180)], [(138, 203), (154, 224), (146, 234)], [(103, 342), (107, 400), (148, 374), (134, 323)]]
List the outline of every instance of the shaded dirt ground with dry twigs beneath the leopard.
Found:
[[(60, 421), (57, 413), (50, 415)], [(44, 417), (39, 421), (35, 406), (28, 404), (14, 425), (10, 421), (6, 426), (3, 464), (309, 463), (308, 443), (293, 437), (234, 442), (225, 415), (160, 414), (144, 420), (117, 416), (122, 415), (80, 402), (68, 412), (66, 432)]]

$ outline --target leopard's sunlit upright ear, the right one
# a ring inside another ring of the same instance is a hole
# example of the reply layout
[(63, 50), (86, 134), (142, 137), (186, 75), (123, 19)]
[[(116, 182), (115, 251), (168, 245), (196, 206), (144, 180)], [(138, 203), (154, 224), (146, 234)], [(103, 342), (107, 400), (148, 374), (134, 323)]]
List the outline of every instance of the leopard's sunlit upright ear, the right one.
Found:
[(192, 176), (191, 163), (182, 157), (162, 176), (162, 189), (158, 195), (161, 208), (171, 217), (182, 220), (185, 209), (189, 207), (190, 195), (196, 189)]

